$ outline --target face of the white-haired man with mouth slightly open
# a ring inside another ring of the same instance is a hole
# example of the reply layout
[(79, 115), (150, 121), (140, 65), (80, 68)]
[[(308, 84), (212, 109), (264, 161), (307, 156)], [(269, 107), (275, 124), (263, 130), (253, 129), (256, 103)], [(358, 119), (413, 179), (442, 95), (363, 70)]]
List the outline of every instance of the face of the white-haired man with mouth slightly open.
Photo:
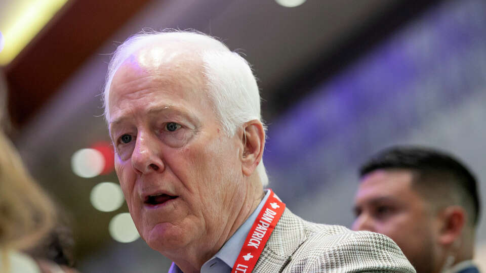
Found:
[(242, 143), (203, 88), (197, 60), (156, 48), (129, 57), (111, 84), (115, 170), (137, 230), (163, 254), (211, 247), (244, 198)]

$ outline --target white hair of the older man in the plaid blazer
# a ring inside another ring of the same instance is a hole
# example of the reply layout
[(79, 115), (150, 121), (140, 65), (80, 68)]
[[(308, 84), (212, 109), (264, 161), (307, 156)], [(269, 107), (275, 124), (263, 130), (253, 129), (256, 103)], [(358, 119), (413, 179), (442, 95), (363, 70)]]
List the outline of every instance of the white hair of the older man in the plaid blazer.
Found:
[[(193, 45), (195, 54), (203, 62), (207, 95), (213, 103), (223, 131), (232, 136), (238, 128), (250, 120), (260, 122), (260, 94), (255, 76), (248, 62), (237, 53), (231, 52), (224, 43), (196, 31), (164, 30), (161, 32), (140, 32), (120, 44), (108, 65), (102, 96), (105, 118), (109, 120), (108, 98), (111, 81), (116, 70), (133, 53), (148, 44), (163, 41), (177, 41)], [(262, 122), (263, 123), (263, 122)], [(265, 127), (264, 127), (265, 128)], [(263, 186), (268, 185), (263, 160), (256, 169)]]

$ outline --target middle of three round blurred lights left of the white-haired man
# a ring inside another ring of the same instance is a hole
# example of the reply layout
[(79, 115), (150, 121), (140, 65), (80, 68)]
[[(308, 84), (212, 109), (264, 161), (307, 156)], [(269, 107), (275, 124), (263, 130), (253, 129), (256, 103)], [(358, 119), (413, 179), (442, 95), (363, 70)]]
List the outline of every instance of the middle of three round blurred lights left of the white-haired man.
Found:
[(91, 204), (100, 211), (117, 210), (123, 204), (123, 192), (118, 184), (103, 182), (91, 190)]

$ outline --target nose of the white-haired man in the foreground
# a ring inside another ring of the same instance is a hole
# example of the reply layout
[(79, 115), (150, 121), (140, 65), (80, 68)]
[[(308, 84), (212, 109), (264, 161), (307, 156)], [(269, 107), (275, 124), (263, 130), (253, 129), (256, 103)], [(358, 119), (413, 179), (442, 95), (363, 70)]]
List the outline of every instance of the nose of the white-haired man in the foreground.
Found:
[(137, 135), (135, 148), (132, 153), (132, 167), (138, 173), (163, 172), (164, 161), (160, 155), (161, 146), (156, 139), (147, 133)]

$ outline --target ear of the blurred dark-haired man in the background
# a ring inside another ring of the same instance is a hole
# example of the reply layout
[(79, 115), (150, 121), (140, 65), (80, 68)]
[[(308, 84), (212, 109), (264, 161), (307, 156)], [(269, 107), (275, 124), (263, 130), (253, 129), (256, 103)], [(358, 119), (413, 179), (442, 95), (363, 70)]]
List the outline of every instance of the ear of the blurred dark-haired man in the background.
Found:
[(439, 217), (441, 219), (439, 243), (450, 246), (461, 237), (466, 223), (466, 212), (460, 206), (449, 206), (439, 213)]

